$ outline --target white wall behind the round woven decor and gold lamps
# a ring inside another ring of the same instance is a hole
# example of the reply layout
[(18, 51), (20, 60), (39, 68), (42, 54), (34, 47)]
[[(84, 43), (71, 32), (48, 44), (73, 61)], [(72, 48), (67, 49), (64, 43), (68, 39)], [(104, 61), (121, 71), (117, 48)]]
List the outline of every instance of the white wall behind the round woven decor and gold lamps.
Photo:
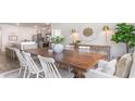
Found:
[[(108, 36), (108, 39), (110, 39), (114, 33), (116, 25), (115, 23), (52, 23), (52, 29), (61, 29), (62, 35), (64, 35), (68, 39), (66, 43), (73, 42), (71, 38), (71, 30), (76, 29), (77, 33), (79, 33), (79, 37), (81, 40), (83, 40), (83, 43), (105, 45), (105, 34), (102, 33), (102, 27), (105, 25), (108, 25), (111, 29), (111, 34)], [(83, 36), (83, 29), (86, 27), (93, 28), (93, 36)], [(125, 53), (124, 43), (115, 43), (112, 41), (109, 41), (109, 43), (111, 46), (111, 56), (119, 56)]]

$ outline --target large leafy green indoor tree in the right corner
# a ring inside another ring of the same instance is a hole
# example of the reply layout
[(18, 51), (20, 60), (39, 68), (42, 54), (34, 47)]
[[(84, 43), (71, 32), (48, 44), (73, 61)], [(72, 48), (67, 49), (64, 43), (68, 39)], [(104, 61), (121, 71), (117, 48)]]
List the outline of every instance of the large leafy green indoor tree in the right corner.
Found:
[(126, 53), (128, 53), (130, 48), (135, 47), (135, 27), (131, 24), (119, 23), (111, 40), (116, 43), (124, 42), (126, 45)]

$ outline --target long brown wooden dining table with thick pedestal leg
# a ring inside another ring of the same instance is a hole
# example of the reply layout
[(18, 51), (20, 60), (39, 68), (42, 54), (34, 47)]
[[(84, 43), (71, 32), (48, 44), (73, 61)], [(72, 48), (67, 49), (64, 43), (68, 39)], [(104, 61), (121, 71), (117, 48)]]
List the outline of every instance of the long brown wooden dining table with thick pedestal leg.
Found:
[(93, 68), (99, 60), (103, 59), (105, 55), (97, 52), (79, 52), (75, 50), (63, 50), (61, 53), (53, 53), (49, 49), (28, 49), (24, 50), (34, 55), (41, 55), (46, 58), (53, 58), (56, 62), (68, 65), (73, 68), (75, 78), (84, 78), (85, 73)]

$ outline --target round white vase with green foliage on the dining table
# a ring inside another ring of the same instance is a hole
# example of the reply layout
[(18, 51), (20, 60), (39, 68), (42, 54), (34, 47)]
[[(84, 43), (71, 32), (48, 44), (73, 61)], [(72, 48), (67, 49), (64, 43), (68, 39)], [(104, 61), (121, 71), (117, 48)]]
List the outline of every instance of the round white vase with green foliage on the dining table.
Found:
[(56, 36), (51, 38), (51, 42), (53, 43), (52, 46), (52, 51), (56, 53), (61, 53), (64, 49), (63, 42), (65, 41), (65, 38), (63, 36)]

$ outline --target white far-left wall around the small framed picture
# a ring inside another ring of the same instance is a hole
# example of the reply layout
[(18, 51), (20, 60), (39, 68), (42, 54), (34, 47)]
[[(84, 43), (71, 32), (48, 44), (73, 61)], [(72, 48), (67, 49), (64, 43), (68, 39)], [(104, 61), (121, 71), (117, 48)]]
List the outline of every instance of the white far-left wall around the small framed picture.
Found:
[(5, 50), (5, 46), (9, 45), (9, 36), (17, 36), (17, 42), (27, 39), (32, 40), (32, 36), (36, 34), (35, 28), (13, 26), (8, 24), (0, 24), (2, 34), (2, 51)]

